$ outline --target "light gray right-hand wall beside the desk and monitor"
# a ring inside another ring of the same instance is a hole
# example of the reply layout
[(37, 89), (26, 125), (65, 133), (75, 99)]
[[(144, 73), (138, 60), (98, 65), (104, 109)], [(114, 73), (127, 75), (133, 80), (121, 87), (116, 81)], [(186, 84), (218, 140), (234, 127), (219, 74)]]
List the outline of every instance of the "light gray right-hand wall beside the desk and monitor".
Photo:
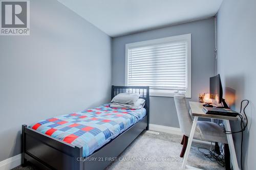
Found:
[[(255, 169), (255, 7), (254, 0), (225, 0), (217, 15), (218, 72), (224, 86), (225, 98), (237, 111), (240, 110), (243, 99), (250, 100), (246, 109), (249, 125), (244, 134), (244, 169)], [(238, 130), (239, 122), (232, 122), (231, 128)], [(233, 138), (240, 163), (241, 134), (233, 135)]]

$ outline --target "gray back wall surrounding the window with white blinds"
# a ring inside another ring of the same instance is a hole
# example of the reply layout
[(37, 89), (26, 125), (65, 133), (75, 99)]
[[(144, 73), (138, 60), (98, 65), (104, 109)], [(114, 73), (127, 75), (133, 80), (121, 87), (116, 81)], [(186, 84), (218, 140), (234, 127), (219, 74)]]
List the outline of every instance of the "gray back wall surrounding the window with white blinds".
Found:
[[(192, 75), (191, 99), (198, 101), (198, 94), (208, 92), (209, 77), (215, 74), (215, 22), (214, 18), (155, 29), (113, 38), (112, 84), (124, 85), (125, 44), (191, 33)], [(179, 127), (173, 98), (150, 98), (150, 123)]]

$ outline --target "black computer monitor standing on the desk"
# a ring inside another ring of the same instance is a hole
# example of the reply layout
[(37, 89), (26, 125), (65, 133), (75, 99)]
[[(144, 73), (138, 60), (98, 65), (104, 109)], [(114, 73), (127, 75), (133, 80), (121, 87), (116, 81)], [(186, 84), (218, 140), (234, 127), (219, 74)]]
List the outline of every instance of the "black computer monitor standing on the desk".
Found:
[(217, 76), (210, 77), (210, 98), (217, 103), (222, 103), (222, 93), (220, 75), (218, 74)]

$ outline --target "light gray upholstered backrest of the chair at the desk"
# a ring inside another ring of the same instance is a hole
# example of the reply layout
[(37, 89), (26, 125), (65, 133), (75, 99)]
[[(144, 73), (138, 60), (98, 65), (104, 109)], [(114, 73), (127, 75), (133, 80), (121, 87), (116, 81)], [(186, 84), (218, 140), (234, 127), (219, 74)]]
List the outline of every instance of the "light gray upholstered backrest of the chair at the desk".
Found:
[(186, 98), (184, 94), (174, 95), (174, 101), (176, 110), (178, 113), (178, 119), (180, 123), (180, 129), (184, 135), (189, 136), (193, 120), (189, 114), (189, 109), (187, 107)]

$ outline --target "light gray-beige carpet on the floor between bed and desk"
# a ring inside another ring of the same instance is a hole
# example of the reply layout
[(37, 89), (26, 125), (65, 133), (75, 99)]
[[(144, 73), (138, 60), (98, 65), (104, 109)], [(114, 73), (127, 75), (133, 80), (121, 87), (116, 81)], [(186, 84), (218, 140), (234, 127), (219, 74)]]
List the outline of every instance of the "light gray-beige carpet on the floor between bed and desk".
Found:
[[(159, 135), (142, 133), (110, 166), (105, 170), (120, 169), (180, 169), (181, 137), (167, 133)], [(188, 164), (201, 169), (225, 169), (217, 162), (212, 162), (200, 153), (197, 147), (209, 148), (209, 145), (193, 143), (188, 157)], [(16, 167), (15, 170), (36, 169), (33, 167)]]

